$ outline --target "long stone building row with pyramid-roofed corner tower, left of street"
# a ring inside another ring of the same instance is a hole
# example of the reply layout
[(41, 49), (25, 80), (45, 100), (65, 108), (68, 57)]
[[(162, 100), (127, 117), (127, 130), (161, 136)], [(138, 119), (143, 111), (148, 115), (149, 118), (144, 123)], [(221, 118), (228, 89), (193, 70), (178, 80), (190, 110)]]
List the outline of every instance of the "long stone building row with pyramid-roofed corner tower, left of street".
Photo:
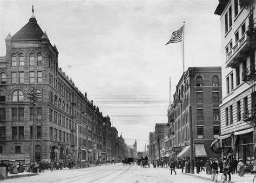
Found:
[[(0, 57), (0, 159), (9, 160), (4, 154), (27, 162), (95, 162), (105, 149), (110, 158), (109, 117), (58, 67), (57, 47), (36, 18), (14, 36), (9, 33), (5, 43), (6, 55)], [(117, 138), (116, 129), (113, 133)]]

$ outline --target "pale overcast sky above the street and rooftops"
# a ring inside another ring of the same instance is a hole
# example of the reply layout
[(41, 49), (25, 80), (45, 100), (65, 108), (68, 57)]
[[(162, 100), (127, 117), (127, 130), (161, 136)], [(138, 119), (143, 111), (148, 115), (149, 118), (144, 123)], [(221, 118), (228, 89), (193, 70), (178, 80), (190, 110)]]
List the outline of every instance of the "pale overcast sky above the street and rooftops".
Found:
[(218, 0), (0, 1), (0, 56), (32, 15), (59, 51), (59, 67), (109, 115), (128, 145), (144, 151), (154, 124), (167, 123), (182, 73), (181, 43), (165, 45), (185, 22), (185, 70), (220, 66)]

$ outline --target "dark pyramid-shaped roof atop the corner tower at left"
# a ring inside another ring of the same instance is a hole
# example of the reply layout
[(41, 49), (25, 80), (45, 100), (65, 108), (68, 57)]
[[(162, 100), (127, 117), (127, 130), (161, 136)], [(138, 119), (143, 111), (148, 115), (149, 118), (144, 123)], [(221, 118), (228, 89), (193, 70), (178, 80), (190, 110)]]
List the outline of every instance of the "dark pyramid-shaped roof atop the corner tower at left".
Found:
[(39, 40), (43, 35), (44, 32), (37, 24), (36, 18), (30, 18), (29, 22), (12, 36), (12, 40)]

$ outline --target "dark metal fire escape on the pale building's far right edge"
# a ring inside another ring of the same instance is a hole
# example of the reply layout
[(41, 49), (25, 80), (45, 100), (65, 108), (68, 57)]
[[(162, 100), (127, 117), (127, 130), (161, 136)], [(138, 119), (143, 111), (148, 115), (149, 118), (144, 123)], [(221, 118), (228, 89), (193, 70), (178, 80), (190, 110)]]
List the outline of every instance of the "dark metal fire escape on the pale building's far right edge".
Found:
[(253, 17), (252, 5), (250, 5), (251, 13), (249, 16), (249, 25), (247, 29), (248, 35), (251, 37), (250, 44), (247, 49), (247, 56), (250, 57), (250, 66), (242, 71), (242, 81), (251, 85), (251, 109), (246, 110), (242, 114), (242, 120), (246, 123), (255, 126), (256, 125), (256, 92), (255, 92), (255, 38), (256, 38), (256, 22)]

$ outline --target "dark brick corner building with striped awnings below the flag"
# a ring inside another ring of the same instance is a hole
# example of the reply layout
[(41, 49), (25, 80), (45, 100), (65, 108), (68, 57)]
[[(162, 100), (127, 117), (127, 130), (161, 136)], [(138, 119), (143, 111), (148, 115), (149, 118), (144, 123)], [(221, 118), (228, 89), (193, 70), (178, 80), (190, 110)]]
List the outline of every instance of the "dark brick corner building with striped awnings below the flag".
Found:
[(191, 157), (190, 134), (195, 157), (220, 157), (210, 146), (220, 134), (221, 96), (221, 67), (189, 67), (184, 72), (168, 110), (165, 151), (171, 159)]

